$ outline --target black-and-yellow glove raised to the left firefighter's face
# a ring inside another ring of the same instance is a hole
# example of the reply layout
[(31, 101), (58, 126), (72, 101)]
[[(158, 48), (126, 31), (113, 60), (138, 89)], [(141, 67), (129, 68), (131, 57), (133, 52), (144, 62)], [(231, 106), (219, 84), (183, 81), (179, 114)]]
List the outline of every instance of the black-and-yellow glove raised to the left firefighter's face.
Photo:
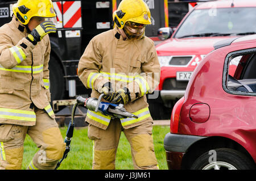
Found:
[(39, 24), (27, 36), (27, 39), (34, 45), (43, 39), (48, 33), (56, 33), (55, 24), (49, 21)]

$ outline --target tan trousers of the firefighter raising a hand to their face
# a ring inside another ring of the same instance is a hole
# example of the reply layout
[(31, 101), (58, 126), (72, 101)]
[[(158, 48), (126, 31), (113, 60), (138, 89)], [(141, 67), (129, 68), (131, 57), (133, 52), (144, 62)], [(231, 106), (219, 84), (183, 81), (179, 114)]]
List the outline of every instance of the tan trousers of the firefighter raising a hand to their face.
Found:
[(59, 159), (63, 157), (65, 144), (55, 119), (38, 108), (35, 108), (35, 113), (35, 126), (0, 125), (0, 170), (22, 168), (23, 144), (26, 134), (39, 148), (27, 169), (52, 170), (55, 169)]

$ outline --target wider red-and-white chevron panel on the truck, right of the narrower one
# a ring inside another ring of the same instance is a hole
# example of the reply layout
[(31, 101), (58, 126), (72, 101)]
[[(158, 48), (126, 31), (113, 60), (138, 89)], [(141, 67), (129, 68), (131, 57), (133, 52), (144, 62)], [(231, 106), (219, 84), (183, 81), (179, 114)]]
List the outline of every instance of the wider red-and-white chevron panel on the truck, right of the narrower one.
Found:
[(63, 1), (63, 27), (82, 27), (81, 1)]

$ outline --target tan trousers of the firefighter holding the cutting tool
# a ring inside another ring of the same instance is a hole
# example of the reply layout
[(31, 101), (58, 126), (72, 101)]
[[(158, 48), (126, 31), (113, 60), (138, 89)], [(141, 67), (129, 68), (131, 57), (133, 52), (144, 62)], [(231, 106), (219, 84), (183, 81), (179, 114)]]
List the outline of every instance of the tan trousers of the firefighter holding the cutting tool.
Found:
[(92, 169), (115, 169), (115, 155), (122, 131), (131, 145), (134, 169), (158, 170), (152, 139), (152, 122), (123, 129), (119, 119), (112, 119), (106, 130), (88, 125), (88, 137), (93, 140)]

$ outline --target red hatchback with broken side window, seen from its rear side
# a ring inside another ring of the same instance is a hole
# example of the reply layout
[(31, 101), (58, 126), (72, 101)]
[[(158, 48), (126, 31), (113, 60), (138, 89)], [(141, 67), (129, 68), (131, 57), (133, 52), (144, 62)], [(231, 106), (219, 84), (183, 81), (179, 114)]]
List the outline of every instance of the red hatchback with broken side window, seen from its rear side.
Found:
[(256, 35), (214, 48), (172, 110), (164, 138), (169, 169), (255, 169)]

